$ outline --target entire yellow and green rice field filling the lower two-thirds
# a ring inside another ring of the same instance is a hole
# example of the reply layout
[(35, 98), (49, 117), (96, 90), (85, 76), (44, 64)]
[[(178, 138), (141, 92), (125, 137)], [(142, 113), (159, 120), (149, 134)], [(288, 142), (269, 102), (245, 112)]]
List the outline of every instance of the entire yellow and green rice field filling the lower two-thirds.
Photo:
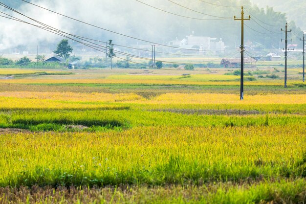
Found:
[(72, 72), (0, 80), (0, 203), (306, 203), (298, 78)]

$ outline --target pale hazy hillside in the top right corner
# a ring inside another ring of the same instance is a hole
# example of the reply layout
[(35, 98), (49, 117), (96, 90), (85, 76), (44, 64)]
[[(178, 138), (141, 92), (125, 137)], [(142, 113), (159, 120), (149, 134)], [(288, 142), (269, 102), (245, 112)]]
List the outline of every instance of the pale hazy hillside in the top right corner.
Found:
[(270, 6), (275, 11), (287, 14), (289, 21), (295, 21), (296, 25), (306, 31), (306, 1), (305, 0), (251, 0), (260, 7)]

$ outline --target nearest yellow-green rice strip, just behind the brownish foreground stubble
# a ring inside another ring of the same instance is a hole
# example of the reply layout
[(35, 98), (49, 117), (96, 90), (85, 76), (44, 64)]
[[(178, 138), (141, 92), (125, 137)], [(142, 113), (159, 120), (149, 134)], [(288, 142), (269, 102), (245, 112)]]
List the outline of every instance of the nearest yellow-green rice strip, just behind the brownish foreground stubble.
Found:
[(298, 180), (306, 177), (304, 131), (305, 124), (291, 124), (8, 134), (0, 136), (5, 144), (0, 150), (0, 186), (202, 186)]

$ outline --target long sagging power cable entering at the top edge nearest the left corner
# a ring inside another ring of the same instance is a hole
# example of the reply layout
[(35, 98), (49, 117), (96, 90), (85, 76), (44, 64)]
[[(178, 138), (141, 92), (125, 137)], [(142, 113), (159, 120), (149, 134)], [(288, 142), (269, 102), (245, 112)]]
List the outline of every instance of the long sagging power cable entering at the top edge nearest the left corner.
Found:
[(58, 13), (58, 12), (56, 12), (56, 11), (52, 11), (52, 10), (50, 10), (50, 9), (47, 9), (47, 8), (45, 8), (45, 7), (43, 7), (43, 6), (37, 5), (37, 4), (32, 3), (32, 2), (29, 2), (29, 1), (27, 1), (27, 0), (21, 0), (21, 1), (26, 2), (26, 3), (29, 3), (29, 4), (31, 4), (31, 5), (34, 5), (34, 6), (36, 6), (36, 7), (39, 7), (39, 8), (41, 8), (41, 9), (47, 10), (47, 11), (49, 11), (49, 12), (58, 14), (58, 15), (60, 15), (60, 16), (66, 17), (66, 18), (71, 19), (71, 20), (73, 20), (73, 21), (77, 21), (77, 22), (79, 22), (79, 23), (84, 23), (84, 24), (87, 24), (87, 25), (89, 25), (89, 26), (92, 26), (92, 27), (95, 27), (95, 28), (98, 28), (98, 29), (101, 29), (101, 30), (105, 30), (105, 31), (108, 31), (108, 32), (111, 32), (111, 33), (114, 33), (114, 34), (117, 34), (117, 35), (121, 35), (121, 36), (124, 36), (124, 37), (127, 37), (127, 38), (131, 38), (131, 39), (134, 39), (134, 40), (139, 40), (139, 41), (143, 41), (143, 42), (147, 42), (147, 43), (155, 44), (155, 45), (161, 45), (161, 46), (166, 46), (166, 47), (172, 47), (172, 48), (176, 48), (176, 49), (194, 50), (194, 49), (188, 49), (188, 48), (175, 47), (175, 46), (171, 46), (171, 45), (163, 45), (163, 44), (160, 44), (160, 43), (154, 43), (154, 42), (152, 42), (152, 41), (147, 41), (147, 40), (143, 40), (143, 39), (140, 39), (140, 38), (135, 38), (135, 37), (132, 37), (132, 36), (129, 36), (129, 35), (125, 35), (125, 34), (122, 34), (122, 33), (118, 33), (118, 32), (115, 32), (115, 31), (112, 31), (112, 30), (109, 30), (109, 29), (106, 29), (106, 28), (102, 28), (102, 27), (97, 26), (97, 25), (93, 25), (93, 24), (91, 24), (91, 23), (86, 23), (86, 22), (84, 22), (84, 21), (81, 21), (81, 20), (78, 20), (78, 19), (75, 19), (75, 18), (66, 16), (66, 15), (64, 15), (64, 14)]

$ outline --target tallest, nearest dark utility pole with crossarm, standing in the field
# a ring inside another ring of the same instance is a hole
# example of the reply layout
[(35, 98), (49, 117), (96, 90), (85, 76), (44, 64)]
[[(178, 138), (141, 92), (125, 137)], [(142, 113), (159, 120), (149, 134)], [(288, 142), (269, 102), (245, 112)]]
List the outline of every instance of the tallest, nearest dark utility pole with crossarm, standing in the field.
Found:
[(244, 59), (243, 59), (243, 52), (244, 52), (244, 39), (243, 39), (243, 21), (245, 20), (251, 20), (251, 16), (249, 16), (248, 19), (244, 19), (244, 11), (243, 11), (243, 6), (241, 6), (241, 19), (237, 19), (236, 16), (234, 16), (235, 21), (241, 21), (241, 62), (240, 62), (240, 100), (243, 100), (243, 64), (244, 64)]

